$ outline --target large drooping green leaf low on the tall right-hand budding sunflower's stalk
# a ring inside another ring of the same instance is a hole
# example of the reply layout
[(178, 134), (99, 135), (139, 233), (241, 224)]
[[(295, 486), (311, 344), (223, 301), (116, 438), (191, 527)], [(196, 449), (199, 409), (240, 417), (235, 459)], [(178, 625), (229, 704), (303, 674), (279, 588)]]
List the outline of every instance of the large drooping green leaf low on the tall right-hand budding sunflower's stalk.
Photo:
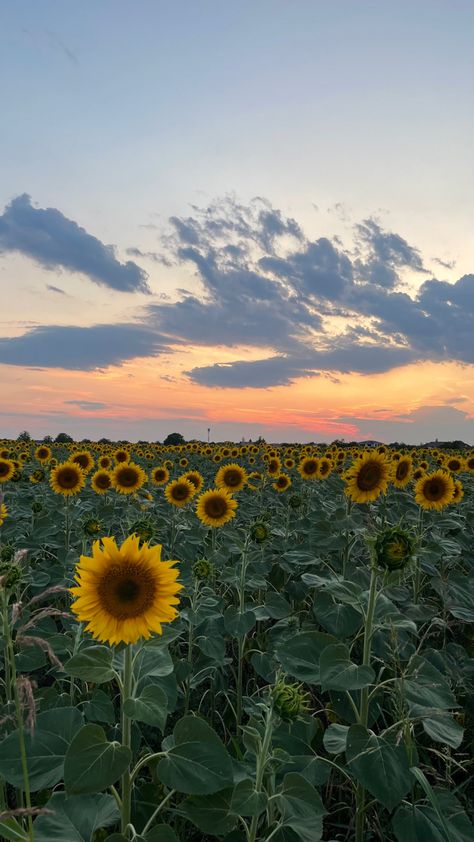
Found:
[(376, 737), (362, 725), (350, 726), (346, 757), (357, 780), (388, 810), (393, 810), (412, 787), (404, 746)]

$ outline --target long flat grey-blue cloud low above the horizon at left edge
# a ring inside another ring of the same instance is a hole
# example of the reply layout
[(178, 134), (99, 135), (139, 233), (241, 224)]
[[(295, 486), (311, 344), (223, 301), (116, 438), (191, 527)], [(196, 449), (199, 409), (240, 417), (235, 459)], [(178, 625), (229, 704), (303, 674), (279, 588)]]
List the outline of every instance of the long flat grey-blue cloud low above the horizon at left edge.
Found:
[(89, 371), (168, 351), (166, 339), (138, 324), (35, 327), (0, 339), (0, 363)]

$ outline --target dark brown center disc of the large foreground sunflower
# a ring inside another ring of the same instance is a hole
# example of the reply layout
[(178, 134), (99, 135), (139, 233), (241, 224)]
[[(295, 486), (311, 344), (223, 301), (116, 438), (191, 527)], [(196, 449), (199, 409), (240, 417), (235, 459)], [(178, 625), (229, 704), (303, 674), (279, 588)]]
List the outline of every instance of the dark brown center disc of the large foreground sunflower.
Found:
[(103, 608), (117, 620), (138, 617), (152, 605), (156, 594), (153, 576), (134, 564), (113, 565), (99, 588)]

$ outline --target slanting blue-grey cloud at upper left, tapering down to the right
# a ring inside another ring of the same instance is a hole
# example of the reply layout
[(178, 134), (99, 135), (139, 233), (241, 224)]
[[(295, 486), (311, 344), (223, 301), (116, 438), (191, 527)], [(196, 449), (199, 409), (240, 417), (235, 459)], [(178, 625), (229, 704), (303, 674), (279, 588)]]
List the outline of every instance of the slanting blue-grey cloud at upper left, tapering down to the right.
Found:
[(24, 193), (0, 216), (0, 252), (19, 252), (45, 269), (80, 272), (120, 292), (149, 292), (147, 274), (128, 260), (120, 263), (104, 245), (56, 208), (35, 208)]

